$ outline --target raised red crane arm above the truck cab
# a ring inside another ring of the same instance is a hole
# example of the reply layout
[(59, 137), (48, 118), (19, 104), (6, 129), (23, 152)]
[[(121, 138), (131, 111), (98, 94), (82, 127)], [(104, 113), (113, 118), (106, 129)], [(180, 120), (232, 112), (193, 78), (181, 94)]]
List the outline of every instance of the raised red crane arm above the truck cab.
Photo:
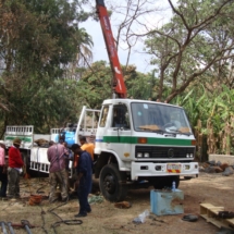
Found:
[(97, 4), (97, 13), (100, 20), (102, 34), (104, 37), (104, 42), (108, 50), (108, 57), (111, 64), (111, 70), (113, 73), (113, 90), (118, 95), (119, 98), (126, 98), (126, 86), (124, 83), (118, 51), (111, 29), (111, 24), (108, 15), (107, 8), (104, 5), (103, 0), (96, 0)]

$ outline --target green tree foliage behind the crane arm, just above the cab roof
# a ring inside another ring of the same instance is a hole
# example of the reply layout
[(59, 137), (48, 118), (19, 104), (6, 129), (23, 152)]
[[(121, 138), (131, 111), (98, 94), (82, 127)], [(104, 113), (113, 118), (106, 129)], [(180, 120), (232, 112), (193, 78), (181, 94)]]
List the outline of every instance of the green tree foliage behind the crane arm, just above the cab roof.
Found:
[[(155, 76), (136, 71), (136, 66), (123, 66), (123, 75), (127, 88), (127, 98), (156, 99)], [(112, 98), (112, 71), (106, 61), (98, 61), (90, 67), (82, 71), (78, 89), (83, 103), (90, 108), (99, 109), (104, 99)], [(152, 88), (153, 87), (153, 88)]]

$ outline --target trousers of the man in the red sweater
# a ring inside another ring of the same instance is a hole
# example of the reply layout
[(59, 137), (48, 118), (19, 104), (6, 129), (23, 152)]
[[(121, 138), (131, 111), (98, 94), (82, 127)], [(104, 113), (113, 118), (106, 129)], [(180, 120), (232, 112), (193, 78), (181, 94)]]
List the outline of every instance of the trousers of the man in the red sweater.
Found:
[(20, 197), (20, 172), (16, 169), (8, 168), (8, 180), (9, 197)]

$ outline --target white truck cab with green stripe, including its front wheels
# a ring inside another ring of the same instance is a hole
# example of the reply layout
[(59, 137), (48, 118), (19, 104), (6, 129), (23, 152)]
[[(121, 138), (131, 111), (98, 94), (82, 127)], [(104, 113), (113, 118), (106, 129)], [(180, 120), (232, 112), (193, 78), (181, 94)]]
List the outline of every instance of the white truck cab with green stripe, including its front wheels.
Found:
[[(183, 108), (134, 99), (109, 99), (96, 132), (95, 176), (103, 196), (125, 197), (136, 184), (171, 187), (197, 176), (196, 140)], [(144, 182), (144, 183), (143, 183)]]

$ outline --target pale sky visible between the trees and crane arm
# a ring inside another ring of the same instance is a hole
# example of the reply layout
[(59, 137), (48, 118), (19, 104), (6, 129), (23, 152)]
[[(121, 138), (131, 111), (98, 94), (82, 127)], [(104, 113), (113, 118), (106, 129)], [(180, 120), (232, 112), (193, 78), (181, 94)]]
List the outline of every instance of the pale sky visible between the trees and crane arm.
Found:
[[(123, 2), (124, 4), (125, 1), (119, 0), (119, 2)], [(149, 14), (140, 19), (140, 22), (144, 22), (148, 27), (160, 26), (161, 24), (167, 23), (171, 15), (171, 10), (168, 4), (168, 1), (163, 1), (163, 4), (160, 3), (159, 0), (158, 1), (155, 0), (152, 2), (156, 2), (153, 3), (155, 4), (153, 8), (158, 10), (153, 12), (153, 14)], [(95, 0), (94, 0), (93, 7), (95, 7)], [(108, 2), (106, 2), (106, 7), (107, 9), (111, 8), (110, 5), (108, 5)], [(150, 5), (150, 8), (152, 8), (152, 5)], [(118, 29), (116, 25), (119, 25), (122, 20), (123, 20), (123, 16), (114, 13), (110, 17), (110, 23), (111, 23), (114, 37), (116, 36), (116, 29)], [(99, 61), (99, 60), (104, 60), (109, 62), (100, 22), (88, 20), (85, 23), (83, 23), (81, 26), (84, 27), (86, 32), (93, 37), (93, 41), (94, 41), (93, 62)], [(140, 25), (133, 25), (133, 28), (135, 32), (139, 34), (146, 32), (145, 27)], [(121, 42), (120, 48), (118, 50), (119, 60), (121, 64), (126, 64), (127, 51), (125, 48), (126, 48), (126, 45), (124, 45), (124, 42)], [(134, 47), (132, 56), (130, 58), (130, 64), (136, 65), (137, 71), (143, 73), (148, 73), (155, 69), (153, 65), (150, 65), (150, 56), (146, 54), (146, 52), (144, 51), (143, 41), (138, 41)]]

